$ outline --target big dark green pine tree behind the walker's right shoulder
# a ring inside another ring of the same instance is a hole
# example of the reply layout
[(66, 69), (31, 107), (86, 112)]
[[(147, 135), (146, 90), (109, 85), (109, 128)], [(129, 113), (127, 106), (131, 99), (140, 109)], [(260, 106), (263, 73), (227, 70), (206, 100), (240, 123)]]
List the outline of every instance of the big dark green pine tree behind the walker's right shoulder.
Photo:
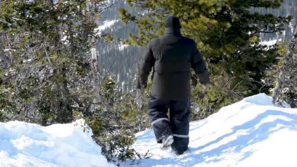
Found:
[[(194, 39), (208, 62), (212, 86), (207, 94), (201, 85), (192, 90), (192, 103), (200, 112), (192, 119), (202, 119), (222, 106), (244, 97), (269, 93), (261, 82), (268, 67), (277, 63), (275, 47), (259, 44), (260, 33), (276, 33), (292, 17), (276, 17), (250, 12), (252, 8), (279, 8), (283, 0), (127, 0), (129, 6), (143, 9), (132, 16), (119, 9), (124, 23), (136, 22), (139, 34), (129, 35), (127, 44), (146, 46), (162, 35), (164, 20), (175, 15), (182, 23), (182, 34)], [(200, 100), (202, 99), (202, 100)]]

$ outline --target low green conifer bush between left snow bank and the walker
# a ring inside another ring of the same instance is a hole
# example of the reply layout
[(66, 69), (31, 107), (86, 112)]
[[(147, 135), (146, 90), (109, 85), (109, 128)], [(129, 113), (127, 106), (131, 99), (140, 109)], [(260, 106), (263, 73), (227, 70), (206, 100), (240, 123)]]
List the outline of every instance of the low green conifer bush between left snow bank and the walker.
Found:
[(134, 133), (148, 128), (149, 121), (144, 107), (139, 108), (135, 99), (132, 94), (117, 90), (116, 83), (106, 77), (100, 86), (100, 102), (86, 118), (92, 137), (102, 146), (108, 162), (126, 161), (137, 155), (130, 148), (136, 140)]

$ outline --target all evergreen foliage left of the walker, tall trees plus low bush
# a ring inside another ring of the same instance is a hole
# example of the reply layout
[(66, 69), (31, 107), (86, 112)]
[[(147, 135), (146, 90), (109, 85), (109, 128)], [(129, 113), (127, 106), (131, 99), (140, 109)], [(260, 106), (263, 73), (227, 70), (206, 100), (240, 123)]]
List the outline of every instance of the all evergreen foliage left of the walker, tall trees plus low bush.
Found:
[(102, 7), (104, 0), (0, 3), (0, 121), (85, 118), (107, 159), (125, 161), (134, 156), (133, 133), (149, 124), (133, 96), (100, 78), (94, 66), (91, 48), (113, 40), (96, 32)]

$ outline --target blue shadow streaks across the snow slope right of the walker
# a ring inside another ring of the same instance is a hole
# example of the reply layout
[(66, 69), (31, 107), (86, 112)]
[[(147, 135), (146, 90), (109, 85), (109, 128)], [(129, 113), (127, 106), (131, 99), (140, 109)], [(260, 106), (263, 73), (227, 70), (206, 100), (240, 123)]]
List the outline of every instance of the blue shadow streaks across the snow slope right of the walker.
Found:
[[(268, 116), (285, 116), (289, 119), (291, 119), (291, 121), (285, 121), (282, 119), (276, 119), (273, 122), (266, 122), (261, 124), (258, 127), (255, 127), (255, 125), (257, 125), (258, 123), (261, 122), (262, 119), (267, 118)], [(274, 130), (270, 130), (271, 128), (275, 128), (277, 125), (284, 125), (282, 127), (279, 127), (277, 129)], [(286, 126), (290, 126), (290, 127), (286, 127)], [(296, 114), (289, 114), (289, 113), (285, 113), (285, 112), (281, 112), (281, 111), (277, 111), (277, 110), (267, 110), (264, 113), (261, 113), (259, 115), (257, 115), (253, 120), (250, 120), (242, 125), (237, 125), (234, 126), (232, 128), (232, 132), (225, 134), (223, 136), (218, 137), (217, 139), (207, 143), (204, 146), (199, 146), (199, 147), (191, 147), (189, 148), (189, 151), (186, 151), (184, 155), (182, 155), (182, 158), (178, 158), (178, 156), (176, 157), (172, 157), (172, 158), (161, 158), (161, 159), (154, 159), (154, 164), (158, 164), (158, 165), (168, 165), (168, 164), (175, 164), (175, 165), (179, 165), (179, 166), (193, 166), (196, 164), (200, 164), (200, 163), (215, 163), (218, 161), (223, 160), (224, 157), (222, 158), (218, 158), (219, 156), (223, 155), (224, 153), (228, 152), (228, 153), (243, 153), (243, 155), (240, 157), (240, 159), (237, 161), (243, 161), (246, 158), (250, 157), (251, 155), (253, 155), (255, 150), (249, 150), (246, 152), (243, 152), (242, 150), (248, 146), (251, 146), (253, 144), (256, 144), (258, 142), (264, 141), (266, 139), (269, 138), (269, 135), (284, 129), (284, 128), (289, 128), (290, 130), (294, 130), (297, 131), (297, 115)], [(223, 144), (220, 145), (216, 148), (213, 148), (209, 151), (204, 151), (201, 152), (201, 150), (203, 148), (206, 148), (208, 146), (211, 146), (213, 144), (217, 144), (220, 141), (222, 141), (223, 139), (230, 137), (234, 134), (236, 134), (238, 131), (240, 130), (245, 130), (245, 132), (247, 133), (246, 135), (238, 135), (236, 139), (229, 141), (227, 144)], [(138, 139), (141, 139), (142, 137), (148, 138), (148, 136), (152, 136), (153, 137), (153, 133), (152, 131), (149, 134), (143, 134), (141, 136), (138, 136)], [(233, 148), (232, 150), (228, 150), (230, 148)], [(199, 152), (198, 154), (195, 154), (195, 152)], [(212, 160), (207, 160), (207, 159), (212, 159)], [(181, 160), (186, 160), (187, 162), (182, 162)], [(147, 163), (149, 163), (149, 160), (144, 159), (144, 160), (140, 160), (139, 165), (147, 165)]]

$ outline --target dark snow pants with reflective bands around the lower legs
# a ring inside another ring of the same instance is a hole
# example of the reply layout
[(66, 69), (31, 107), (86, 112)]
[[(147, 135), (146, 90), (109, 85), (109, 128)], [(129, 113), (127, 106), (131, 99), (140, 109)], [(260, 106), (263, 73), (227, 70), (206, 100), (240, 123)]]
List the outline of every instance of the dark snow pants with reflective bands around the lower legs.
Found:
[[(172, 149), (188, 149), (190, 128), (190, 99), (188, 101), (162, 101), (153, 96), (149, 97), (148, 118), (154, 130), (157, 143), (162, 138), (172, 135)], [(169, 109), (169, 116), (168, 116)]]

